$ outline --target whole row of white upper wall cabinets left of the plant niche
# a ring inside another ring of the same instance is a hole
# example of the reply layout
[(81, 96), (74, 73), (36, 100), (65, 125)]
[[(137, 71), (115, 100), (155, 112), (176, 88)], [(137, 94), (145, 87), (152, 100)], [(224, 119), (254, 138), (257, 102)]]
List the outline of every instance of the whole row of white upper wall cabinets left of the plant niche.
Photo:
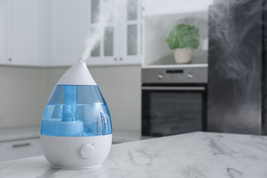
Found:
[[(103, 0), (0, 0), (0, 64), (71, 66)], [(118, 3), (116, 0), (108, 0)], [(120, 1), (90, 65), (141, 64), (140, 0)]]

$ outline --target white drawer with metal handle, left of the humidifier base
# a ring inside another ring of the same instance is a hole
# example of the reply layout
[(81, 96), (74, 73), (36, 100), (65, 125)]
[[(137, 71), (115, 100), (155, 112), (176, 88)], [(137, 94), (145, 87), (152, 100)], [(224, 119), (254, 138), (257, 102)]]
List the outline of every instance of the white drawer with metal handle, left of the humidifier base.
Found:
[(40, 138), (0, 142), (0, 161), (42, 155)]

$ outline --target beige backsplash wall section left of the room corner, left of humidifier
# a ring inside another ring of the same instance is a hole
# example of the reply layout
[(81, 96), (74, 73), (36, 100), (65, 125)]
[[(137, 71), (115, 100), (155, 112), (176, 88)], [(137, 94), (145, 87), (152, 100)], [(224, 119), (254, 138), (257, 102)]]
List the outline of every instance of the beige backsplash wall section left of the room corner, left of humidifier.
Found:
[(0, 127), (40, 125), (45, 93), (43, 68), (0, 66)]

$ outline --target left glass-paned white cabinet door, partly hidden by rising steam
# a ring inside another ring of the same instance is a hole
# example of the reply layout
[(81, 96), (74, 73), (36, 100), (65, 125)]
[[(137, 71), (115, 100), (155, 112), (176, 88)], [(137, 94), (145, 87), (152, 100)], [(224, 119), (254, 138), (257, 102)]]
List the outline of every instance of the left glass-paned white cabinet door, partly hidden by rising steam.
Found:
[[(88, 35), (93, 33), (93, 31), (96, 30), (97, 25), (99, 25), (95, 17), (100, 13), (100, 1), (101, 0), (91, 0), (86, 5), (87, 7), (90, 7), (90, 10), (88, 10), (90, 14), (87, 14), (89, 17), (88, 22), (90, 22), (89, 27), (86, 29)], [(117, 21), (114, 21), (114, 14), (112, 14), (110, 19), (104, 23), (104, 36), (90, 53), (87, 60), (88, 64), (116, 64), (116, 62), (118, 62), (118, 25), (116, 24)]]

